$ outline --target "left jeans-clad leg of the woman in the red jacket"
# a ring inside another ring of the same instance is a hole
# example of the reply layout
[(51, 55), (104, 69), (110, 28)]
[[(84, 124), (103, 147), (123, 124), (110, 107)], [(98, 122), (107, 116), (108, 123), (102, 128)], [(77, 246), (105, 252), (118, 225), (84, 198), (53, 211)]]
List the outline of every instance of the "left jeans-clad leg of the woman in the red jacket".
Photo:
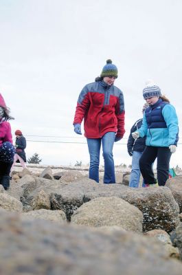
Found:
[(99, 163), (101, 138), (87, 138), (90, 154), (89, 179), (99, 182)]

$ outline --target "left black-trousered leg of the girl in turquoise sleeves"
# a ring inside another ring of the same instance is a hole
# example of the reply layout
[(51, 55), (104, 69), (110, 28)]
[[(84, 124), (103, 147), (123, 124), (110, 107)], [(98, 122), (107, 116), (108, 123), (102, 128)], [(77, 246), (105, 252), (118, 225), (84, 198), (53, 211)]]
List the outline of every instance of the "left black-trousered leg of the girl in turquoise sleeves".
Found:
[(158, 147), (146, 146), (144, 152), (139, 159), (139, 168), (144, 178), (144, 184), (156, 184), (157, 179), (153, 173), (152, 164), (157, 157)]

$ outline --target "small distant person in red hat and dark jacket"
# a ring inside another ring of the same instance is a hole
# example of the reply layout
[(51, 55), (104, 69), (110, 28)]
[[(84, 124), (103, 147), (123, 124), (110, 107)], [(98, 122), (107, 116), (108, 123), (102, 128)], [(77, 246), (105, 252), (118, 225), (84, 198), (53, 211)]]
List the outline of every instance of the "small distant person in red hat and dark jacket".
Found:
[[(20, 130), (16, 130), (15, 135), (16, 135), (16, 141), (15, 141), (14, 147), (16, 148), (16, 153), (14, 155), (14, 162), (12, 164), (12, 168), (16, 162), (20, 162), (21, 166), (25, 168), (26, 167), (25, 162), (27, 162), (26, 155), (25, 155), (25, 148), (27, 145), (26, 139), (25, 137), (23, 137), (23, 134)], [(11, 171), (12, 171), (12, 168), (11, 168)]]

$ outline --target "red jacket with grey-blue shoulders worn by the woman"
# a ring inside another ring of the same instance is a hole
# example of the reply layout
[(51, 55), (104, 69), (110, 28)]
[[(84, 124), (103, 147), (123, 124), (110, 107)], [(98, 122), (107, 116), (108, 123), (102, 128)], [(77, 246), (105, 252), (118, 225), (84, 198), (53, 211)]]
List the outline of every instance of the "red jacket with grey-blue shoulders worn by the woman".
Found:
[(122, 91), (98, 81), (82, 89), (73, 124), (81, 124), (84, 118), (84, 135), (88, 138), (99, 138), (107, 132), (123, 137), (124, 113)]

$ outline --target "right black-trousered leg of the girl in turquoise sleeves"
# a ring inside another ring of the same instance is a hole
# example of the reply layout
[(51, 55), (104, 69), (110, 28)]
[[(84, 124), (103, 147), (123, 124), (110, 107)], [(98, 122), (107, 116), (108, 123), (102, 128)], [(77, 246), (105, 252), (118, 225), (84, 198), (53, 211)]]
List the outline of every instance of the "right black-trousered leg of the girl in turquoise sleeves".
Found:
[(157, 179), (159, 186), (165, 186), (169, 177), (170, 168), (170, 149), (168, 147), (159, 147), (157, 153)]

